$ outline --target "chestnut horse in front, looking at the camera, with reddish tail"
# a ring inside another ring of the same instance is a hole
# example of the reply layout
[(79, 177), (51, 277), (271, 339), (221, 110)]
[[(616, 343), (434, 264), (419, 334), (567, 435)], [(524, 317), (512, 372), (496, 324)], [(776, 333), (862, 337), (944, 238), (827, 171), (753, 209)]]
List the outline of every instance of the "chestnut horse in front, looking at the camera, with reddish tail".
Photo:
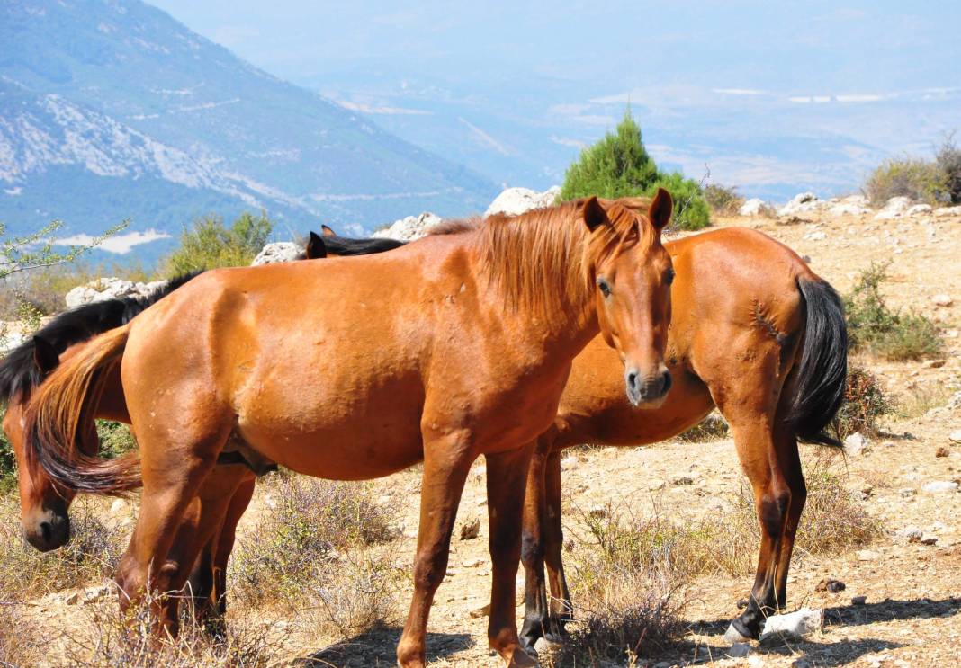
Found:
[[(571, 360), (599, 330), (624, 361), (631, 402), (663, 399), (671, 263), (659, 232), (672, 205), (660, 191), (645, 217), (591, 198), (382, 255), (204, 274), (92, 341), (37, 389), (24, 426), (28, 465), (98, 493), (142, 477), (140, 516), (117, 569), (136, 598), (180, 588), (219, 526), (225, 497), (198, 492), (228, 441), (346, 480), (423, 461), (415, 590), (398, 646), (399, 663), (413, 666), (424, 664), (460, 491), (482, 454), (488, 637), (511, 664), (533, 665), (513, 618), (533, 440), (554, 418)], [(103, 462), (79, 447), (81, 417), (121, 361), (139, 472), (136, 457)], [(186, 532), (185, 517), (195, 518)], [(157, 609), (171, 630), (175, 607)]]

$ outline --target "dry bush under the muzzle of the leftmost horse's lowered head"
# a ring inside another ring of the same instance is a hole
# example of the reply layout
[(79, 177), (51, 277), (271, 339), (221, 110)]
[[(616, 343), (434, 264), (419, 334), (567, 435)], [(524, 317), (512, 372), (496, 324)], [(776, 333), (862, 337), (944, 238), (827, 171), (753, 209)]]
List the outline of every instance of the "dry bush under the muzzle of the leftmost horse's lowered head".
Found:
[(60, 591), (109, 577), (126, 547), (125, 531), (111, 527), (92, 499), (78, 499), (70, 510), (70, 542), (40, 554), (23, 538), (14, 495), (0, 497), (0, 582), (22, 596)]

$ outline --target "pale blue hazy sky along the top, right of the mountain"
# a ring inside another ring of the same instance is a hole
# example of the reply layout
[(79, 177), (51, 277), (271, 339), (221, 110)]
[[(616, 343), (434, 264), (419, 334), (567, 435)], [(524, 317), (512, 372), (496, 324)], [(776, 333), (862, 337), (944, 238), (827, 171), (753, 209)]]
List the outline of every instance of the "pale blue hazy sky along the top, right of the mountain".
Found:
[(484, 83), (679, 84), (791, 95), (961, 85), (961, 3), (160, 0), (286, 79), (375, 68)]

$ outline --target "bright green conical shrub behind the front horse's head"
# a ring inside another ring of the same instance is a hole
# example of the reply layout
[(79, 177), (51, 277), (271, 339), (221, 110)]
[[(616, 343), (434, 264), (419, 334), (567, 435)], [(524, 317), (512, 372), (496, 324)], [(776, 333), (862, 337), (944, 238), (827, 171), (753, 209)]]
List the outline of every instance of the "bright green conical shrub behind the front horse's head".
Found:
[(613, 133), (608, 132), (594, 146), (584, 149), (567, 169), (560, 199), (651, 196), (658, 186), (674, 197), (675, 227), (700, 229), (707, 225), (710, 212), (701, 185), (678, 172), (664, 174), (657, 170), (644, 148), (641, 128), (628, 109)]

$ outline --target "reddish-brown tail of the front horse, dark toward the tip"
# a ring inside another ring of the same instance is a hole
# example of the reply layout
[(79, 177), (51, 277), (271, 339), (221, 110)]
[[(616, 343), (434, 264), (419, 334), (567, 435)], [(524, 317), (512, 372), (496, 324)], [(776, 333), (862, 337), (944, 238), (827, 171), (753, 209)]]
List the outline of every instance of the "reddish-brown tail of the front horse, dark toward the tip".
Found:
[(93, 339), (40, 385), (27, 407), (24, 435), (29, 465), (40, 465), (67, 489), (119, 495), (142, 486), (139, 455), (112, 460), (81, 449), (111, 371), (120, 364), (130, 325)]

